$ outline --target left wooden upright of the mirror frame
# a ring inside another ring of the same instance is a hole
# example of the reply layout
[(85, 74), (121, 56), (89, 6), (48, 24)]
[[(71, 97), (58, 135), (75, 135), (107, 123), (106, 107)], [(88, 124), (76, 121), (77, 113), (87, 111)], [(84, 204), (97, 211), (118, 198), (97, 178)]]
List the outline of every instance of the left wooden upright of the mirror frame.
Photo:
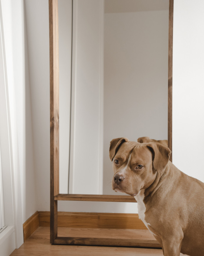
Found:
[(57, 201), (59, 194), (59, 47), (58, 1), (49, 0), (50, 32), (50, 241), (57, 237)]

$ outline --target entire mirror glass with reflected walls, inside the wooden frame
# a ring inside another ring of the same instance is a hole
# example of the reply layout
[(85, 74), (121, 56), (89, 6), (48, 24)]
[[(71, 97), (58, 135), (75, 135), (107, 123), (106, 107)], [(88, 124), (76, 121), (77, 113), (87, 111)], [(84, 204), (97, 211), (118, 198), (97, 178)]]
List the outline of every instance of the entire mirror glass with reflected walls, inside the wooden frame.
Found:
[(110, 141), (167, 139), (169, 2), (58, 4), (60, 193), (114, 195)]

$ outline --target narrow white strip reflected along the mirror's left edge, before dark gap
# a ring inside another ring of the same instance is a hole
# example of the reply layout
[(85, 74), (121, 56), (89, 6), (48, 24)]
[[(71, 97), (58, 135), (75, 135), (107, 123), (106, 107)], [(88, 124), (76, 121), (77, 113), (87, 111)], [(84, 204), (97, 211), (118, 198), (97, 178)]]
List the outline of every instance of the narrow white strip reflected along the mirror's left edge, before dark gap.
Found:
[(60, 115), (60, 193), (68, 193), (71, 60), (72, 60), (72, 0), (58, 1), (59, 13), (59, 115)]

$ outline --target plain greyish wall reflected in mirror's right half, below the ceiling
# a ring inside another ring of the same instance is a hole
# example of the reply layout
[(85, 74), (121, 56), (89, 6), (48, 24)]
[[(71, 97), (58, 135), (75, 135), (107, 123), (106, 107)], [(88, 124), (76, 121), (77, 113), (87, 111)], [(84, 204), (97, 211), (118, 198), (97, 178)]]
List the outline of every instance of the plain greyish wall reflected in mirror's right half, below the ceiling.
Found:
[(168, 137), (168, 23), (168, 10), (105, 14), (103, 194), (116, 194), (112, 139)]

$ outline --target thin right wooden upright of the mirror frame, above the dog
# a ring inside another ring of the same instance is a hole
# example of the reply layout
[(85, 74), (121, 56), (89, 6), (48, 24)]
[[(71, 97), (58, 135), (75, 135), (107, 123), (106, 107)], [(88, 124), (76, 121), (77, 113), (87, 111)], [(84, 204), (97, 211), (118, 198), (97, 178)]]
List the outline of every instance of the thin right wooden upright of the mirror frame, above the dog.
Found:
[[(173, 9), (174, 0), (169, 1), (169, 57), (168, 57), (168, 147), (172, 151), (172, 67), (173, 67)], [(172, 162), (172, 153), (170, 155)]]

